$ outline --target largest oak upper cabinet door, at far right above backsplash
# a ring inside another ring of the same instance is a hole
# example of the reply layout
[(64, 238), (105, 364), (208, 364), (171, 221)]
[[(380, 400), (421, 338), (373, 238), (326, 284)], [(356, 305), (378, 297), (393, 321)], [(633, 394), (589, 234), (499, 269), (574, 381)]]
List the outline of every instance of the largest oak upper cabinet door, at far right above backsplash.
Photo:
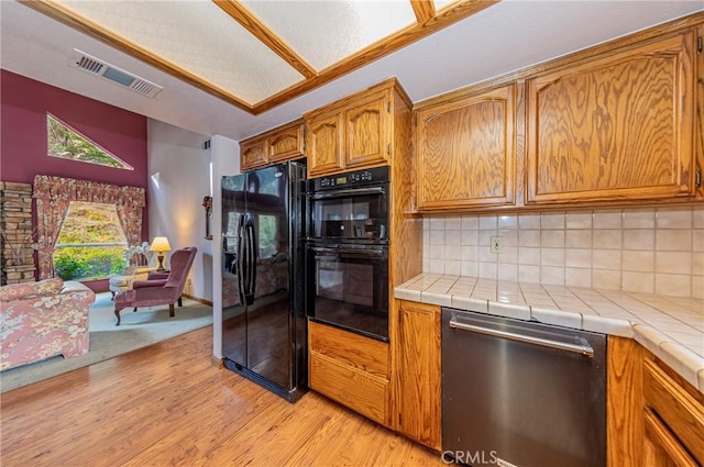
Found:
[(690, 31), (527, 81), (527, 202), (694, 194)]

